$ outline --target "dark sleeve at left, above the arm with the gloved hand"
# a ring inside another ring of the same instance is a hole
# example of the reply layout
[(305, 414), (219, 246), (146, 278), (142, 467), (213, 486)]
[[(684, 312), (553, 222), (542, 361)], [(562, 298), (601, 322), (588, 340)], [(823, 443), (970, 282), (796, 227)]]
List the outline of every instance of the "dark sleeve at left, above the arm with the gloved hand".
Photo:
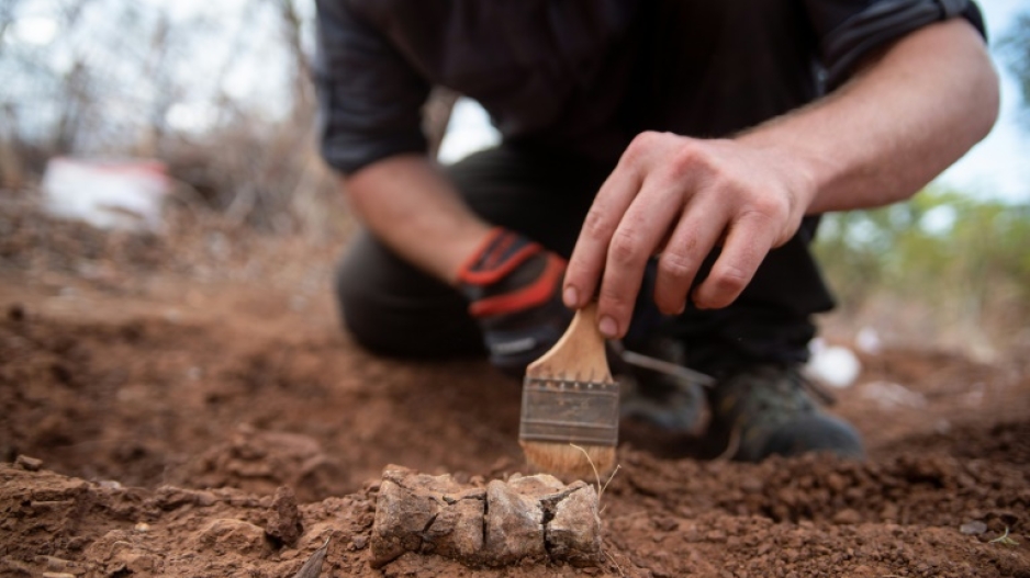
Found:
[(317, 0), (314, 84), (322, 157), (347, 174), (379, 159), (426, 150), (429, 84), (343, 0)]

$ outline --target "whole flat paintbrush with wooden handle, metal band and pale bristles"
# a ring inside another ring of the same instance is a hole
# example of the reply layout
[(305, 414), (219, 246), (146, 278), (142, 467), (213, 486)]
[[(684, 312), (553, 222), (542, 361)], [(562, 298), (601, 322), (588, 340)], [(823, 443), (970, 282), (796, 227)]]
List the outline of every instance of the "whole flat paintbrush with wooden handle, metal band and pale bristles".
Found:
[(566, 480), (611, 472), (618, 394), (592, 303), (576, 311), (555, 347), (526, 367), (518, 441), (529, 466)]

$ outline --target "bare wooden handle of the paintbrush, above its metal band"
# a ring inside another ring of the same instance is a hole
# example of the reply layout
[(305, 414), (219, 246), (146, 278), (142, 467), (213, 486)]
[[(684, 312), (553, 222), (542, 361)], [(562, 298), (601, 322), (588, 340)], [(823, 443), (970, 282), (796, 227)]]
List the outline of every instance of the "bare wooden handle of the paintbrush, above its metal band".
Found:
[(566, 333), (547, 353), (526, 367), (526, 375), (578, 382), (611, 382), (604, 336), (597, 329), (597, 305), (575, 311)]

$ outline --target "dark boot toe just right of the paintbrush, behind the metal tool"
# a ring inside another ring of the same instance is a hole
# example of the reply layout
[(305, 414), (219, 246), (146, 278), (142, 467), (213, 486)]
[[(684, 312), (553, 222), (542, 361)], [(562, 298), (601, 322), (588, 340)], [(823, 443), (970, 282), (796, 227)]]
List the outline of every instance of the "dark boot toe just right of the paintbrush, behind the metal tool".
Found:
[[(682, 349), (671, 340), (652, 340), (638, 353), (682, 365)], [(627, 364), (611, 354), (613, 374), (622, 389), (623, 418), (643, 421), (676, 433), (699, 433), (707, 400), (699, 384), (685, 377)], [(613, 360), (613, 356), (616, 358)]]

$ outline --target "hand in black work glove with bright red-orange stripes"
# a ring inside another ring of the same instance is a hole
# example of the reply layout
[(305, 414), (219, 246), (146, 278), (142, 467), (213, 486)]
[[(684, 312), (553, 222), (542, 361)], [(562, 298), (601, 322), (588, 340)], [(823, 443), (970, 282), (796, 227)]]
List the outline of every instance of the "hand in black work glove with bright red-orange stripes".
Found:
[(572, 320), (561, 303), (564, 271), (564, 259), (501, 227), (461, 267), (459, 288), (496, 367), (522, 377), (558, 342)]

